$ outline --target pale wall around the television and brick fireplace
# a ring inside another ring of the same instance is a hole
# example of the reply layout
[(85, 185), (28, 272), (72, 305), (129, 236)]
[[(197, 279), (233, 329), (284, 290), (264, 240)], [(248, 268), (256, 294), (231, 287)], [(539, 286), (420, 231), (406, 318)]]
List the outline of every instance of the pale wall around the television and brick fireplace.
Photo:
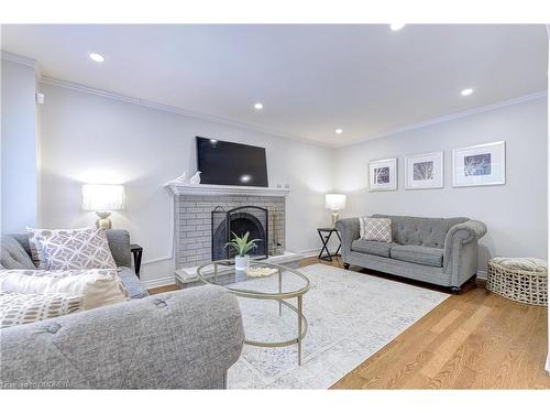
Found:
[[(332, 150), (177, 113), (41, 85), (42, 203), (44, 227), (94, 222), (80, 210), (82, 183), (122, 183), (127, 210), (113, 213), (113, 227), (127, 228), (144, 247), (144, 261), (170, 251), (172, 196), (163, 187), (196, 170), (195, 135), (266, 149), (270, 185), (290, 185), (287, 250), (319, 248), (316, 228), (330, 222), (324, 193), (332, 189)], [(142, 279), (170, 276), (172, 261), (144, 265)]]

